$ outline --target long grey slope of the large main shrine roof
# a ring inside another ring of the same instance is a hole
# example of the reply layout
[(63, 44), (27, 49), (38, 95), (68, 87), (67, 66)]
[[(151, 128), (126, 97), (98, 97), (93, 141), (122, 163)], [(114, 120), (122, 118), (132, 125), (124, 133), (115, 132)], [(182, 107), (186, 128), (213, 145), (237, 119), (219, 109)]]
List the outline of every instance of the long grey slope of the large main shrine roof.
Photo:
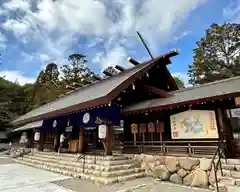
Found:
[(165, 59), (165, 55), (154, 61), (143, 62), (117, 75), (82, 87), (20, 116), (13, 121), (13, 124), (32, 122), (79, 109), (107, 104), (162, 59)]

